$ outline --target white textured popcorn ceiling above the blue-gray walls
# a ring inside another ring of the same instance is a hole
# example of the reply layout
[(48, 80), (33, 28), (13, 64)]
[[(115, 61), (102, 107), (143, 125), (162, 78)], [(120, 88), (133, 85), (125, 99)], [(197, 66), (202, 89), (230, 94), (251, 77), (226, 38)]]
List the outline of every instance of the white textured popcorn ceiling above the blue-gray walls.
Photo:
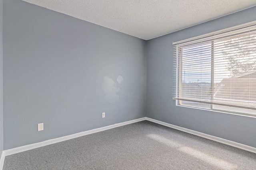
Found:
[(256, 0), (23, 1), (145, 40), (256, 6)]

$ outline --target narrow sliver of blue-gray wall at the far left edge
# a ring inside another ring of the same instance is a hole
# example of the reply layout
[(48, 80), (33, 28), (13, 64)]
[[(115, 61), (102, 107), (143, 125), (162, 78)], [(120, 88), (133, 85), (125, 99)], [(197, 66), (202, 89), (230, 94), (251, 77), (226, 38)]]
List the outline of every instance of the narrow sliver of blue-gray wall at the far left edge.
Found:
[(0, 0), (0, 154), (4, 147), (3, 126), (3, 0)]

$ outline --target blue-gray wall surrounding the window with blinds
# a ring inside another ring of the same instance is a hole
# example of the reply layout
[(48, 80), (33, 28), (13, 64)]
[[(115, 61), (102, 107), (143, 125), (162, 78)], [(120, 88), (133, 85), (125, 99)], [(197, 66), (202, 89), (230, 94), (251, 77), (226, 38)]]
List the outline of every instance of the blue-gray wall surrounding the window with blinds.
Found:
[(147, 117), (256, 147), (256, 118), (175, 106), (172, 42), (256, 20), (256, 7), (146, 42)]

